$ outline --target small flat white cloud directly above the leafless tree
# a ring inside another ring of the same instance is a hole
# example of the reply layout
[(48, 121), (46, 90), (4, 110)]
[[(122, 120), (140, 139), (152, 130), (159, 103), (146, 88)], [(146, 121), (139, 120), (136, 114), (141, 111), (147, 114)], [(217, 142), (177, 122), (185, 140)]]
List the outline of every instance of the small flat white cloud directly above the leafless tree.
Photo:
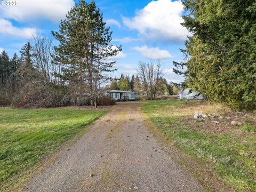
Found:
[(147, 59), (168, 59), (172, 58), (172, 55), (167, 50), (161, 50), (158, 47), (148, 46), (135, 46), (131, 49), (138, 51), (143, 57)]

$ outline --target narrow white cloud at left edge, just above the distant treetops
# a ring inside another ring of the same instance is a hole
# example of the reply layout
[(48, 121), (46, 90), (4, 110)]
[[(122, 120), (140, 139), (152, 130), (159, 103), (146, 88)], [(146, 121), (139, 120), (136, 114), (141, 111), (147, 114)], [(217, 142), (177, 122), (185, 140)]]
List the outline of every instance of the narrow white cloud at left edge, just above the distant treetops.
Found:
[(0, 34), (31, 38), (36, 34), (36, 29), (14, 27), (10, 21), (0, 18)]

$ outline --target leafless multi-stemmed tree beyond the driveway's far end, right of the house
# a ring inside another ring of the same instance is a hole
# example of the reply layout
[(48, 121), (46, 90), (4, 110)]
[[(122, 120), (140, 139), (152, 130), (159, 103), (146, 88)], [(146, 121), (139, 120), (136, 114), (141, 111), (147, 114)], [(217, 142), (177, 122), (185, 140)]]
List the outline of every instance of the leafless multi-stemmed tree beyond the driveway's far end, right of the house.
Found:
[(157, 91), (161, 89), (159, 78), (162, 76), (162, 67), (160, 60), (151, 60), (148, 62), (140, 61), (137, 73), (143, 89), (147, 93), (147, 98), (149, 100), (154, 100)]

